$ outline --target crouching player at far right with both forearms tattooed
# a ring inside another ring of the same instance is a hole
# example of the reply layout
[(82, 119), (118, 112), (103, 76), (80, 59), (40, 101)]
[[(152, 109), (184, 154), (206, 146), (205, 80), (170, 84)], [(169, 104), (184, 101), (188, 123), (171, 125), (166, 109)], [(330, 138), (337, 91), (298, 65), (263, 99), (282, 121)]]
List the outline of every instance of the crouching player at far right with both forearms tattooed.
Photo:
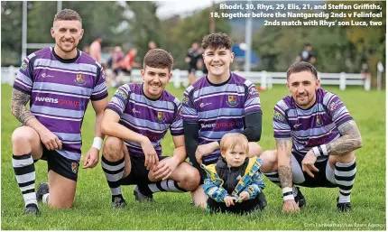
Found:
[(291, 65), (287, 88), (291, 96), (273, 109), (276, 151), (261, 155), (261, 171), (282, 187), (284, 211), (306, 204), (295, 185), (338, 188), (337, 209), (351, 210), (355, 150), (362, 147), (355, 120), (337, 95), (319, 88), (317, 70), (308, 62)]

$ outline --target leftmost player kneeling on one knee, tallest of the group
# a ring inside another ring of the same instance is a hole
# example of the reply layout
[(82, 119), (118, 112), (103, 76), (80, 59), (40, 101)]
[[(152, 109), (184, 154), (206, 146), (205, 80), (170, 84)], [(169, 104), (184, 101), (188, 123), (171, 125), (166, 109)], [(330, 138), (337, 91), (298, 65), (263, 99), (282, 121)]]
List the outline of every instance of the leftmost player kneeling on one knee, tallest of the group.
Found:
[[(37, 200), (51, 208), (72, 206), (81, 125), (89, 100), (96, 111), (95, 143), (83, 167), (93, 168), (99, 159), (104, 137), (100, 121), (108, 102), (106, 79), (101, 65), (77, 49), (83, 33), (77, 12), (64, 9), (55, 14), (51, 28), (55, 46), (25, 58), (14, 81), (12, 114), (23, 125), (12, 135), (12, 163), (25, 202), (24, 214), (40, 215)], [(29, 101), (30, 108), (26, 107)], [(49, 182), (42, 183), (35, 195), (34, 162), (40, 159), (48, 163)]]

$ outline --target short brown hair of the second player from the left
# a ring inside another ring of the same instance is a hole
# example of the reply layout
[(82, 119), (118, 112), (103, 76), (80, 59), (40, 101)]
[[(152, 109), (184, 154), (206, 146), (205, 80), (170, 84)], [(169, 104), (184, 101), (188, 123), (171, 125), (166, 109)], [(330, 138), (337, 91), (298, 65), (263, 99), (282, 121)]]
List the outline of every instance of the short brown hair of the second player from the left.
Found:
[(174, 59), (169, 52), (162, 49), (152, 49), (144, 56), (143, 69), (145, 70), (145, 66), (149, 66), (157, 69), (168, 68), (172, 70), (173, 63)]

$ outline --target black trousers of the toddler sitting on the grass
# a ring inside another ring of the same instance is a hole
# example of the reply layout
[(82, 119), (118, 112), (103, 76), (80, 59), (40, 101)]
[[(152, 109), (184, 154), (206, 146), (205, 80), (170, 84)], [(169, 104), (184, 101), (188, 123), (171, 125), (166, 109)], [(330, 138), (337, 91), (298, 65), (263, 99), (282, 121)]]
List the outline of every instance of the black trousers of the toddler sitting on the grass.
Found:
[(258, 209), (260, 209), (259, 196), (257, 196), (255, 199), (245, 200), (243, 202), (235, 203), (234, 206), (229, 206), (229, 207), (226, 207), (225, 202), (217, 202), (212, 198), (208, 198), (208, 211), (211, 213), (229, 212), (229, 213), (236, 213), (236, 214), (245, 214)]

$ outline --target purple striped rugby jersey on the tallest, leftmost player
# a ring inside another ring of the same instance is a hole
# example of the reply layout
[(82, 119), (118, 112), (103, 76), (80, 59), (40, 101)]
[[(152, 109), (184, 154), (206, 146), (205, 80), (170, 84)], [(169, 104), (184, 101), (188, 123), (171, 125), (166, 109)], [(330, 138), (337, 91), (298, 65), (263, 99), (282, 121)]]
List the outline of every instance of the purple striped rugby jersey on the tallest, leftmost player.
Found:
[(79, 161), (89, 99), (107, 97), (101, 65), (82, 51), (74, 59), (63, 60), (52, 47), (42, 49), (23, 60), (14, 88), (31, 95), (32, 114), (62, 142), (62, 149), (56, 151)]

